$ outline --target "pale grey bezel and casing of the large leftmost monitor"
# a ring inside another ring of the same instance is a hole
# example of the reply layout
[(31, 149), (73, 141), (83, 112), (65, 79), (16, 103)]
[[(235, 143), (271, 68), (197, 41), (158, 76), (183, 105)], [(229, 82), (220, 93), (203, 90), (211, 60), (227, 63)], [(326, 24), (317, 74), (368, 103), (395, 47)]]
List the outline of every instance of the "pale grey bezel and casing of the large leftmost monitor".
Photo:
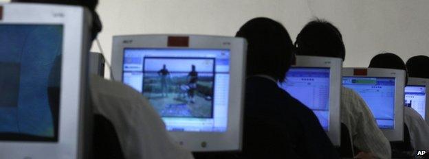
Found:
[[(91, 16), (78, 6), (0, 3), (0, 25), (63, 25), (58, 141), (0, 140), (0, 158), (83, 158), (87, 139), (87, 45)], [(85, 129), (85, 130), (84, 130)], [(85, 147), (85, 148), (84, 148)]]

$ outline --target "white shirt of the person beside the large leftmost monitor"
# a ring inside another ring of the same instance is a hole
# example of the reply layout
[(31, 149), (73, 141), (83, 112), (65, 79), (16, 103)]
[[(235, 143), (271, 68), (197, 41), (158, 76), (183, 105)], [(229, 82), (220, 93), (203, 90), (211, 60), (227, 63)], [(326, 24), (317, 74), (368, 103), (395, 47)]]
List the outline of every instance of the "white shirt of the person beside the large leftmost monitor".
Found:
[(91, 76), (90, 89), (94, 113), (111, 121), (125, 158), (193, 158), (173, 142), (161, 117), (136, 90), (96, 75)]

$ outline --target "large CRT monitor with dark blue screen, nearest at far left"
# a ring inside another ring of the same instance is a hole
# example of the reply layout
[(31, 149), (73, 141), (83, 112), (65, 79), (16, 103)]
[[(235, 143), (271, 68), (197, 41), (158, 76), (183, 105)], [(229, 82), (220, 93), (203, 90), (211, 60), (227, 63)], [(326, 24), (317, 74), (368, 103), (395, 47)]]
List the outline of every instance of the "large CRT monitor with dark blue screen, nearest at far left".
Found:
[(89, 21), (76, 6), (0, 3), (0, 158), (83, 158)]

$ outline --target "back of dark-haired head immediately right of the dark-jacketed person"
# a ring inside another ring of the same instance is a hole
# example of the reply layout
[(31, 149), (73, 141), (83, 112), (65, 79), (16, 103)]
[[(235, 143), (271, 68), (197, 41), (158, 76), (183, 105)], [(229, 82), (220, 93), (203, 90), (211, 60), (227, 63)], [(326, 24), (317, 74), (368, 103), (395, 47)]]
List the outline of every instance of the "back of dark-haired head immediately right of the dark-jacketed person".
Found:
[(340, 30), (328, 21), (316, 19), (303, 27), (296, 37), (296, 55), (342, 58), (346, 56)]

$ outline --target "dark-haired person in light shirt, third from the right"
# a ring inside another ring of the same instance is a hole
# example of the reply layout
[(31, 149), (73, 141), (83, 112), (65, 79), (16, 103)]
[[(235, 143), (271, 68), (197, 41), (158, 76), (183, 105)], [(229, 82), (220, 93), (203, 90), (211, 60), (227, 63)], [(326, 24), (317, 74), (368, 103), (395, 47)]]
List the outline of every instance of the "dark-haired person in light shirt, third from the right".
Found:
[[(296, 37), (296, 55), (342, 58), (346, 49), (340, 31), (328, 21), (314, 20), (303, 27)], [(341, 87), (340, 121), (349, 129), (357, 157), (391, 158), (391, 145), (375, 122), (364, 99), (350, 88)], [(344, 145), (342, 145), (344, 146)]]

